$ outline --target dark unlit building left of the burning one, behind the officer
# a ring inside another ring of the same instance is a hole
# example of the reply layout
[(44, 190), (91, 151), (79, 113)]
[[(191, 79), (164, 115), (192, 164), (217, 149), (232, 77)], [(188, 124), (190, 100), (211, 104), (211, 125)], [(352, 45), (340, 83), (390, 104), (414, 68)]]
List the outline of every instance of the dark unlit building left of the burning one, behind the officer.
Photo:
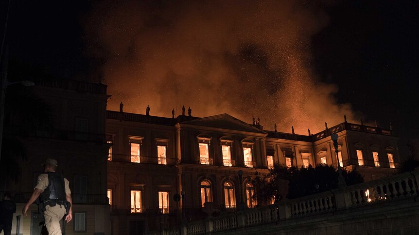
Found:
[[(70, 181), (73, 200), (73, 220), (66, 224), (66, 234), (110, 235), (106, 190), (112, 139), (105, 134), (106, 86), (55, 79), (36, 80), (35, 86), (29, 88), (13, 86), (6, 94), (12, 121), (5, 122), (3, 139), (20, 143), (18, 147), (24, 149), (26, 159), (17, 162), (20, 174), (16, 180), (3, 175), (1, 179), (1, 196), (10, 192), (17, 203), (12, 234), (40, 234), (39, 223), (44, 218), (37, 206), (32, 204), (27, 217), (21, 211), (34, 191), (37, 176), (43, 172), (41, 165), (47, 158), (55, 158), (57, 171)], [(21, 101), (27, 104), (14, 104), (9, 92), (25, 97)], [(25, 117), (28, 113), (33, 116)], [(33, 123), (28, 125), (27, 120)], [(44, 125), (40, 125), (42, 122)], [(3, 149), (14, 151), (13, 147)], [(2, 155), (1, 160), (5, 159)]]

